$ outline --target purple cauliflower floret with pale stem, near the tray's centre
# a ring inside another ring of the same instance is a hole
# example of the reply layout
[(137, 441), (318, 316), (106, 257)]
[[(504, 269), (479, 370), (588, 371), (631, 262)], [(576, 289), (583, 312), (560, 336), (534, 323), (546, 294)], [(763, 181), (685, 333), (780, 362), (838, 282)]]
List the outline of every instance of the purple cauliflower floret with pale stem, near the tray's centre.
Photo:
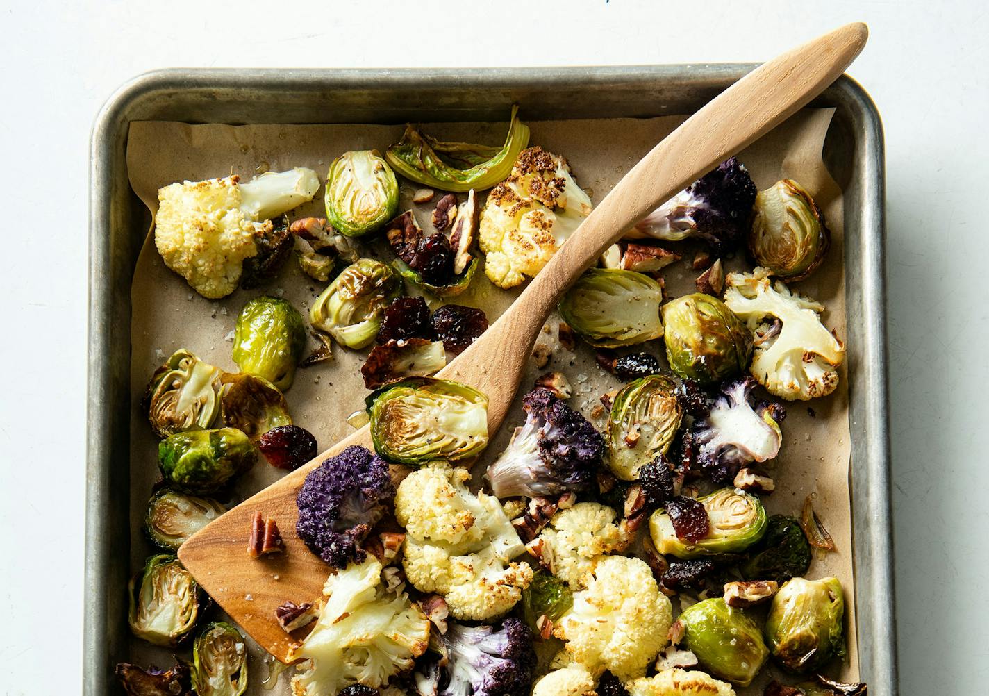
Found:
[(536, 388), (522, 403), (525, 424), (485, 475), (494, 495), (534, 498), (593, 488), (604, 451), (600, 433), (549, 390)]

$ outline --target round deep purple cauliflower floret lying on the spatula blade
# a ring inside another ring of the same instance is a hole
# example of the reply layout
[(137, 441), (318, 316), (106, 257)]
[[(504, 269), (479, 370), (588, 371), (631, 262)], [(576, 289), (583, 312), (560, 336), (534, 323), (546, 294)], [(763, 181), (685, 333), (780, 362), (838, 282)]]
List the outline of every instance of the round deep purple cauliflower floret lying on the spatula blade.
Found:
[(296, 497), (296, 531), (330, 566), (360, 563), (371, 528), (395, 499), (388, 464), (363, 447), (348, 447), (310, 472)]

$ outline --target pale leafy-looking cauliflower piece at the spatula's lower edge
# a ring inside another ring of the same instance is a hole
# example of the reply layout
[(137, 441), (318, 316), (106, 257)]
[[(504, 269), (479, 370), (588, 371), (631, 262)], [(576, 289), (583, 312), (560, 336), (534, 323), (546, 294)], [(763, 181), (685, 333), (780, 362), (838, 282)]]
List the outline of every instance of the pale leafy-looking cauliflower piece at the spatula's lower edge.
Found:
[(296, 696), (335, 694), (355, 682), (380, 688), (425, 652), (429, 620), (401, 586), (385, 588), (381, 570), (368, 556), (326, 580), (313, 631), (291, 655), (306, 660), (292, 679)]

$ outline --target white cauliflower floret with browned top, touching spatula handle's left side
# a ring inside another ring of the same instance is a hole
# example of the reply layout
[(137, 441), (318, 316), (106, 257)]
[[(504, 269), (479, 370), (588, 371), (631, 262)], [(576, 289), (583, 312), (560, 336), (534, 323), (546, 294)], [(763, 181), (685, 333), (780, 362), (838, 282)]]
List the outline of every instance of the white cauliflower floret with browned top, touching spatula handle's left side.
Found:
[(522, 150), (481, 212), (478, 241), (488, 278), (499, 288), (514, 288), (535, 276), (590, 208), (566, 159), (542, 147)]

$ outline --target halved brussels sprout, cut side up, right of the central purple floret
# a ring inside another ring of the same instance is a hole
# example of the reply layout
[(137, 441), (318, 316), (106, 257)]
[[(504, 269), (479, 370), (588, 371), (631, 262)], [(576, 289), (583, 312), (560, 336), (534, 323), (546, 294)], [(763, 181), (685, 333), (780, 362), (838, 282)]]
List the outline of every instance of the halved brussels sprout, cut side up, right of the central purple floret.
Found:
[(670, 449), (683, 416), (675, 388), (669, 377), (649, 375), (615, 394), (608, 415), (608, 466), (619, 479), (638, 479), (643, 466)]

